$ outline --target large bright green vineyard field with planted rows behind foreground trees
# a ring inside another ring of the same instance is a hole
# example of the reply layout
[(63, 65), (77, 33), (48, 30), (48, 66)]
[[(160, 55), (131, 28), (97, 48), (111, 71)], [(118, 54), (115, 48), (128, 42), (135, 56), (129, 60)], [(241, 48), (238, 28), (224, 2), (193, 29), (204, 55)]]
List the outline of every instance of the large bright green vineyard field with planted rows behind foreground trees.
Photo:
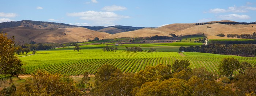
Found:
[(26, 74), (33, 73), (36, 69), (43, 69), (51, 73), (61, 73), (70, 76), (82, 75), (84, 71), (95, 74), (102, 64), (111, 64), (122, 72), (135, 73), (146, 66), (157, 64), (173, 64), (175, 60), (189, 60), (191, 68), (204, 67), (208, 71), (218, 73), (218, 65), (224, 57), (234, 57), (240, 62), (247, 61), (253, 66), (255, 57), (240, 57), (228, 55), (216, 55), (210, 53), (184, 52), (181, 56), (177, 52), (156, 51), (148, 53), (127, 52), (103, 52), (101, 49), (84, 49), (79, 52), (73, 50), (37, 51), (35, 55), (19, 57), (24, 64)]

